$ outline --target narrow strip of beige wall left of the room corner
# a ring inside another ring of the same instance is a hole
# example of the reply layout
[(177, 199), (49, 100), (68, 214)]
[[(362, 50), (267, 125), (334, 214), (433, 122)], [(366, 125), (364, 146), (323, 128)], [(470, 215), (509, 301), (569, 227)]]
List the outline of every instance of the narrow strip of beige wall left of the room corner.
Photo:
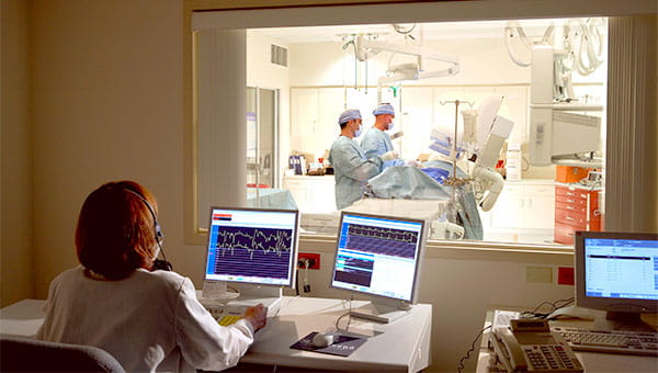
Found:
[(33, 295), (27, 1), (2, 0), (0, 306)]

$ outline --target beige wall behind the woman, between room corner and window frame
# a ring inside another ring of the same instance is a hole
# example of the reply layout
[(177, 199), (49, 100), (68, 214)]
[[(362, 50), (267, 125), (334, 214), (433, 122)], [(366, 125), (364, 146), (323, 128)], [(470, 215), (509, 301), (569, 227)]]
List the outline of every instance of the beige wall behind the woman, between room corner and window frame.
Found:
[(110, 180), (149, 188), (169, 259), (188, 273), (203, 265), (188, 252), (200, 248), (181, 246), (181, 1), (34, 2), (34, 296), (77, 264), (80, 205)]

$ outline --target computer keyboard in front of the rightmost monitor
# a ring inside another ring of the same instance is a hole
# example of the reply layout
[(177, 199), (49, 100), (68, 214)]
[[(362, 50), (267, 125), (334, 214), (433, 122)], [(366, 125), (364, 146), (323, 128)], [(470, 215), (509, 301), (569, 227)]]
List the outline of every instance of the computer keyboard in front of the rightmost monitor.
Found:
[(658, 357), (658, 332), (563, 327), (551, 330), (560, 334), (574, 350)]

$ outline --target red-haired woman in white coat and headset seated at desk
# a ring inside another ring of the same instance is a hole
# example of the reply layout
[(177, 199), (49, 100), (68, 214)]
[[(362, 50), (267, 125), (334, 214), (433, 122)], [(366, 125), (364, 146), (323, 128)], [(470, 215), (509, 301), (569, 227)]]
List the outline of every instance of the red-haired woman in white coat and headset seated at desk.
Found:
[(121, 181), (93, 191), (76, 229), (81, 265), (50, 283), (36, 338), (99, 347), (127, 372), (236, 365), (265, 325), (264, 308), (251, 307), (236, 324), (219, 326), (190, 279), (155, 269), (162, 262), (156, 260), (161, 237), (148, 190)]

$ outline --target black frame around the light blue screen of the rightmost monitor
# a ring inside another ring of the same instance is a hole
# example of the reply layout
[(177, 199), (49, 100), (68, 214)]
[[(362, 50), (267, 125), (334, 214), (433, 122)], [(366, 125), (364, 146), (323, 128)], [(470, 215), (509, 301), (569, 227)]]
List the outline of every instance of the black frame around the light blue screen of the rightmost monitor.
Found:
[(656, 299), (631, 299), (624, 298), (623, 305), (620, 298), (587, 296), (585, 289), (585, 240), (594, 239), (631, 239), (631, 240), (655, 240), (658, 241), (658, 234), (655, 233), (621, 233), (621, 231), (576, 231), (574, 238), (574, 257), (576, 286), (576, 305), (585, 308), (592, 308), (606, 312), (622, 313), (656, 313), (658, 301)]

